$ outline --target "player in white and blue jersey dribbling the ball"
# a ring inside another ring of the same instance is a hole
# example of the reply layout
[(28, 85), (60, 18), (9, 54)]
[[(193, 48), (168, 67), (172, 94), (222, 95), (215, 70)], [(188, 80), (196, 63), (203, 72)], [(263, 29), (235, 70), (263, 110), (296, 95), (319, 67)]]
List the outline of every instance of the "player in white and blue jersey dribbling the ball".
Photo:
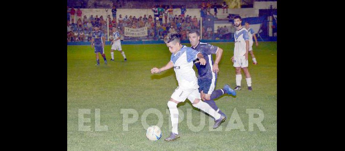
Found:
[(200, 101), (201, 97), (198, 90), (198, 79), (193, 69), (193, 61), (196, 58), (199, 58), (200, 64), (205, 65), (206, 60), (202, 53), (190, 47), (182, 45), (180, 43), (180, 37), (180, 34), (172, 32), (164, 38), (164, 42), (166, 43), (167, 47), (169, 47), (169, 51), (172, 53), (170, 61), (164, 67), (154, 67), (151, 69), (151, 73), (153, 74), (160, 73), (174, 67), (176, 79), (178, 82), (177, 89), (175, 89), (175, 92), (171, 95), (170, 100), (168, 101), (172, 130), (170, 136), (164, 139), (165, 141), (174, 141), (180, 138), (180, 134), (177, 131), (177, 104), (184, 102), (187, 98), (194, 107), (205, 111), (210, 116), (216, 119), (215, 125), (213, 126), (214, 129), (218, 128), (220, 123), (225, 121), (226, 119), (225, 116), (220, 115), (207, 103)]

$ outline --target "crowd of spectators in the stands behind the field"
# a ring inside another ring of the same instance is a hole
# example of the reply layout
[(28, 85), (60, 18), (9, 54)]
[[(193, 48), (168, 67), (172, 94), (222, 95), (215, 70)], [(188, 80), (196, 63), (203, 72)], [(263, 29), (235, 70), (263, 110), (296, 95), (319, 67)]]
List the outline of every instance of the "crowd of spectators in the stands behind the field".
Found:
[[(201, 17), (206, 17), (206, 15), (212, 15), (216, 17), (215, 14), (210, 13), (211, 9), (210, 2), (201, 3), (200, 5), (200, 15)], [(227, 6), (223, 4), (223, 12)], [(216, 3), (214, 5), (215, 10)], [(121, 14), (117, 17), (116, 16), (116, 7), (112, 7), (112, 18), (108, 15), (104, 18), (102, 15), (90, 15), (87, 17), (84, 15), (82, 17), (82, 11), (78, 8), (75, 10), (74, 8), (67, 7), (67, 42), (88, 42), (91, 40), (91, 34), (93, 31), (93, 26), (96, 24), (99, 25), (99, 30), (103, 31), (107, 39), (107, 22), (109, 25), (109, 34), (111, 33), (111, 28), (119, 29), (121, 37), (124, 40), (162, 40), (164, 36), (169, 32), (179, 32), (181, 34), (181, 40), (187, 40), (188, 31), (191, 29), (198, 29), (200, 30), (200, 20), (196, 18), (196, 16), (189, 16), (186, 14), (187, 9), (182, 6), (180, 8), (181, 12), (179, 14), (174, 14), (172, 6), (164, 6), (162, 5), (152, 6), (152, 11), (154, 16), (144, 14), (140, 17), (126, 15), (123, 17)], [(77, 17), (75, 15), (77, 14)], [(165, 20), (163, 21), (163, 17)], [(76, 20), (75, 20), (76, 19)], [(147, 27), (148, 36), (142, 37), (124, 37), (124, 30), (125, 27), (138, 29)], [(230, 30), (232, 28), (230, 27)], [(235, 29), (233, 27), (233, 29)], [(231, 34), (228, 33), (229, 29), (224, 27), (219, 27), (216, 29), (217, 33), (214, 33), (213, 28), (211, 27), (202, 27), (203, 39), (228, 39), (231, 37)], [(232, 31), (230, 31), (232, 32)], [(215, 34), (215, 35), (214, 35)], [(110, 39), (111, 39), (110, 34)], [(121, 39), (122, 40), (122, 39)]]

